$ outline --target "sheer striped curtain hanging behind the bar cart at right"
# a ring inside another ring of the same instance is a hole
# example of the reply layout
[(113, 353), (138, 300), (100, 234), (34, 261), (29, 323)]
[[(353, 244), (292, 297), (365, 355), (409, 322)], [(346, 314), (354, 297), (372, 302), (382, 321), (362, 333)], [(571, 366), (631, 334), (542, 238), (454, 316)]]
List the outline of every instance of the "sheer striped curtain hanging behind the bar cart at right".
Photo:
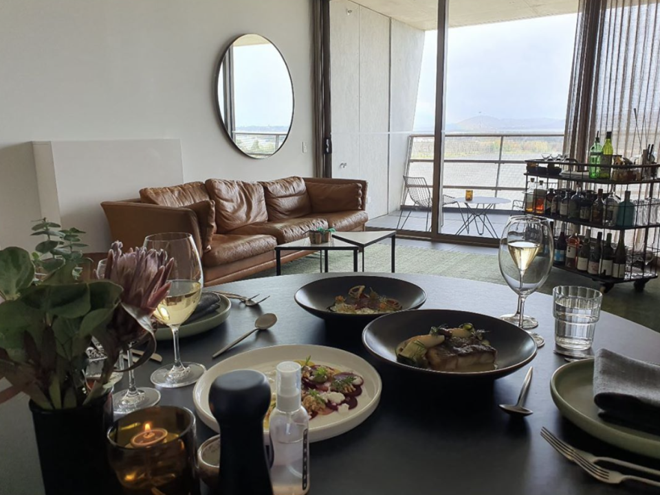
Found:
[(597, 131), (602, 142), (606, 130), (613, 131), (616, 154), (633, 158), (648, 143), (658, 146), (659, 4), (580, 0), (564, 153), (586, 161)]

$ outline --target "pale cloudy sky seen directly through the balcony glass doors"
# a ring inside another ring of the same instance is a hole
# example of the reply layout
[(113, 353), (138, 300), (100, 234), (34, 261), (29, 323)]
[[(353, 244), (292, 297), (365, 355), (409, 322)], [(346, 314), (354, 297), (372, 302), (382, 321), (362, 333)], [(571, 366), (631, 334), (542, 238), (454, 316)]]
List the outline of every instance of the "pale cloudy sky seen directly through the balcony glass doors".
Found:
[[(575, 23), (576, 15), (566, 14), (451, 28), (445, 122), (478, 115), (564, 119)], [(428, 31), (416, 131), (434, 129), (436, 56), (437, 31)]]

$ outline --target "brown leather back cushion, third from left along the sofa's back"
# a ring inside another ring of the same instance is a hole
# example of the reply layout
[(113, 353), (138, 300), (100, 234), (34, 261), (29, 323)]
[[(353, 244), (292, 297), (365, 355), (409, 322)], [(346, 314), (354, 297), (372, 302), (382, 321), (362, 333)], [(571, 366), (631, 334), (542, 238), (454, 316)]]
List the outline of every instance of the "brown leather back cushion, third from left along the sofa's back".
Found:
[(298, 218), (311, 213), (311, 202), (302, 177), (261, 182), (261, 185), (270, 222)]

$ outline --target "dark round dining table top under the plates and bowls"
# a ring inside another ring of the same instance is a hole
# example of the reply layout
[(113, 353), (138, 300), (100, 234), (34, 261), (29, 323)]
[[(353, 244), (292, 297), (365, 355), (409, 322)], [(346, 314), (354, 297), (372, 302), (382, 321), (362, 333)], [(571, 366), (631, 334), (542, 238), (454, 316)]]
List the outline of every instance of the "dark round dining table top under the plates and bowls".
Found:
[[(516, 295), (506, 286), (432, 275), (379, 273), (411, 281), (428, 294), (423, 308), (451, 308), (499, 316), (513, 312)], [(526, 406), (527, 419), (511, 419), (497, 404), (516, 402), (527, 367), (494, 384), (470, 384), (451, 389), (432, 379), (409, 373), (372, 358), (362, 346), (360, 327), (327, 327), (299, 308), (294, 292), (309, 281), (340, 274), (285, 275), (224, 284), (223, 290), (252, 295), (270, 294), (261, 307), (235, 304), (228, 321), (216, 329), (183, 339), (184, 360), (207, 367), (212, 352), (252, 329), (262, 312), (274, 312), (278, 323), (237, 345), (225, 357), (256, 347), (278, 344), (321, 344), (342, 347), (369, 360), (381, 373), (383, 392), (375, 413), (351, 432), (312, 444), (311, 495), (337, 494), (627, 494), (646, 487), (626, 483), (605, 485), (555, 452), (540, 435), (542, 426), (569, 443), (595, 454), (642, 463), (660, 463), (604, 444), (562, 419), (549, 389), (551, 375), (564, 364), (552, 352), (551, 297), (531, 295), (526, 312), (538, 318), (538, 332), (549, 343), (531, 363), (534, 376)], [(605, 297), (616, 297), (615, 292)], [(660, 361), (660, 334), (619, 316), (604, 313), (597, 324), (594, 348), (608, 347), (633, 358)], [(159, 343), (165, 360), (171, 345)], [(136, 372), (138, 384), (149, 384), (157, 364)], [(125, 381), (118, 387), (125, 387)], [(41, 495), (39, 459), (26, 398), (0, 406), (0, 494)], [(162, 391), (162, 404), (194, 411), (192, 386)], [(199, 442), (214, 435), (198, 421)], [(649, 487), (648, 492), (652, 493)], [(90, 492), (92, 493), (92, 492)]]

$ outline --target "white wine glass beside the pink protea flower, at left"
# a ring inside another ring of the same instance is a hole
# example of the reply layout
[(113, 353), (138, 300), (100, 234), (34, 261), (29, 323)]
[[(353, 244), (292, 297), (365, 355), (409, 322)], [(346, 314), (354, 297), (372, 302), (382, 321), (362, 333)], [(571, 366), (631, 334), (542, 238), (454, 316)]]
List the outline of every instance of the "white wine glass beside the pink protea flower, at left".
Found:
[(195, 241), (189, 233), (168, 232), (148, 235), (144, 239), (146, 249), (165, 251), (174, 259), (168, 277), (170, 290), (159, 303), (153, 316), (172, 330), (174, 336), (174, 365), (157, 369), (151, 382), (158, 387), (173, 389), (197, 382), (206, 368), (196, 362), (181, 362), (179, 352), (179, 327), (197, 308), (204, 284), (201, 261)]

